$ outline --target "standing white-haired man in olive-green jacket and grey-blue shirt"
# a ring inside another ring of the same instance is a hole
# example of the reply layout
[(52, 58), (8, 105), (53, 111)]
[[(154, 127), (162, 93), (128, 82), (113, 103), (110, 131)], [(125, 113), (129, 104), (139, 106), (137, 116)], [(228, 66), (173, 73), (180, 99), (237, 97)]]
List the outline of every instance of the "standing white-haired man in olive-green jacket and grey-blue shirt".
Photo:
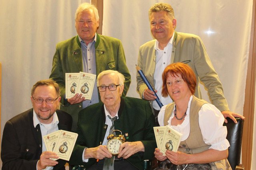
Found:
[(65, 73), (83, 71), (98, 76), (103, 70), (117, 70), (125, 77), (123, 96), (126, 95), (131, 82), (121, 41), (96, 33), (99, 26), (97, 8), (92, 4), (81, 4), (76, 10), (75, 21), (78, 35), (56, 45), (50, 74), (50, 78), (60, 86), (60, 109), (73, 117), (73, 131), (77, 127), (78, 112), (98, 103), (100, 98), (95, 83), (92, 100), (85, 100), (82, 94), (66, 99)]

